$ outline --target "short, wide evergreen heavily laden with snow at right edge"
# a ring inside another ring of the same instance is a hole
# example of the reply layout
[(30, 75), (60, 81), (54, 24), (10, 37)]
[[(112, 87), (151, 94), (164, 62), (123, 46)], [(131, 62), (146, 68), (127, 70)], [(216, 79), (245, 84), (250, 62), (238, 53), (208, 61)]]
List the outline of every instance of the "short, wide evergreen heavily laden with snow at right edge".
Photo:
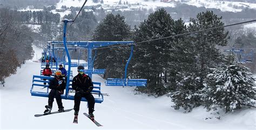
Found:
[(204, 92), (208, 110), (225, 109), (226, 112), (254, 104), (254, 78), (250, 69), (234, 61), (233, 54), (225, 57), (225, 63), (208, 74)]

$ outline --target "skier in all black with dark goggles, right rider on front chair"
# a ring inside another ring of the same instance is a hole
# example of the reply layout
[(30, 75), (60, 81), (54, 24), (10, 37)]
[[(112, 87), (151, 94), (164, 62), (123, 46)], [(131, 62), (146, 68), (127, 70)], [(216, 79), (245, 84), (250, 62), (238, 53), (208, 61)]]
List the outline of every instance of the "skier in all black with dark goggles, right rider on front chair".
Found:
[(72, 81), (72, 88), (74, 90), (76, 90), (75, 97), (74, 97), (75, 118), (78, 116), (81, 99), (82, 99), (82, 97), (85, 97), (85, 99), (87, 100), (87, 103), (88, 103), (88, 107), (89, 107), (89, 116), (93, 120), (94, 119), (93, 111), (94, 111), (94, 105), (95, 105), (95, 98), (91, 94), (91, 91), (93, 89), (92, 80), (89, 76), (84, 74), (83, 66), (78, 66), (77, 71), (78, 71), (78, 75), (75, 76)]

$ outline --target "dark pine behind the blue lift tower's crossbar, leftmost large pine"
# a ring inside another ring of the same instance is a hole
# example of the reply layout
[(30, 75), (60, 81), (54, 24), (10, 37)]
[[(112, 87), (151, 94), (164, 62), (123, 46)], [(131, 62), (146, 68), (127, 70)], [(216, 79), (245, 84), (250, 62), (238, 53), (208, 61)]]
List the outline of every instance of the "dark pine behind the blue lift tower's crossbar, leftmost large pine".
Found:
[[(96, 41), (127, 41), (131, 37), (131, 28), (125, 23), (125, 17), (108, 14), (93, 34)], [(99, 49), (95, 61), (96, 68), (106, 69), (105, 78), (123, 78), (130, 47)]]

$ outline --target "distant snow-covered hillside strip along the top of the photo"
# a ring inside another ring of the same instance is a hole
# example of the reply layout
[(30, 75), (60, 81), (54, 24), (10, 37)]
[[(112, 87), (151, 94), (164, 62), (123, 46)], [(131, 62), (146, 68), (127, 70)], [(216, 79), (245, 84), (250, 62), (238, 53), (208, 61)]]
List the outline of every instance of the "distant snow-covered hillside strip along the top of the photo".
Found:
[[(104, 4), (102, 4), (102, 8), (106, 9), (109, 6), (117, 6), (120, 0), (104, 0)], [(189, 0), (188, 2), (181, 2), (181, 0), (175, 0), (175, 2), (164, 3), (160, 2), (160, 0), (152, 1), (149, 0), (145, 2), (144, 0), (122, 0), (121, 4), (124, 5), (124, 2), (129, 3), (131, 6), (127, 8), (144, 8), (144, 9), (155, 9), (156, 7), (173, 7), (176, 6), (177, 3), (185, 3), (194, 6), (205, 6), (205, 8), (215, 8), (220, 9), (221, 11), (232, 11), (232, 12), (239, 12), (244, 8), (256, 9), (256, 4), (254, 3), (247, 3), (247, 2), (228, 2), (228, 1), (212, 1), (212, 0)], [(84, 1), (79, 0), (62, 0), (57, 3), (56, 8), (61, 8), (61, 6), (65, 5), (67, 7), (75, 6), (79, 7), (82, 6)], [(89, 5), (97, 5), (100, 3), (93, 3), (92, 1), (88, 1), (86, 6)], [(139, 4), (139, 6), (137, 5)], [(119, 5), (120, 6), (120, 5)]]

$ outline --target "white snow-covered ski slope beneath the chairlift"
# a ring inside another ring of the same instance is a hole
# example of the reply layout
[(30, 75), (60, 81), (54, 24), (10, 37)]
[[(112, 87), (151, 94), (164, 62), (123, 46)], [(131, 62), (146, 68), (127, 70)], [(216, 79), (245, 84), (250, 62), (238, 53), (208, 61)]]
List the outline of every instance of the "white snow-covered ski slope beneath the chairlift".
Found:
[[(35, 56), (42, 49), (36, 48)], [(34, 57), (32, 60), (37, 60)], [(217, 120), (203, 107), (184, 114), (173, 110), (171, 99), (166, 96), (154, 98), (134, 95), (133, 87), (105, 86), (104, 79), (93, 75), (94, 82), (102, 83), (102, 92), (109, 93), (104, 102), (95, 105), (95, 118), (102, 124), (97, 127), (82, 113), (87, 112), (86, 102), (80, 104), (78, 124), (73, 124), (73, 111), (34, 117), (44, 111), (48, 98), (30, 95), (32, 76), (39, 75), (40, 63), (26, 61), (17, 74), (6, 78), (5, 86), (0, 86), (0, 129), (254, 129), (255, 109), (246, 109), (224, 114)], [(76, 75), (76, 68), (72, 68)], [(63, 100), (65, 109), (73, 107), (72, 100)], [(53, 111), (57, 110), (53, 102)], [(222, 115), (222, 114), (221, 114)], [(213, 117), (211, 120), (205, 120)]]

